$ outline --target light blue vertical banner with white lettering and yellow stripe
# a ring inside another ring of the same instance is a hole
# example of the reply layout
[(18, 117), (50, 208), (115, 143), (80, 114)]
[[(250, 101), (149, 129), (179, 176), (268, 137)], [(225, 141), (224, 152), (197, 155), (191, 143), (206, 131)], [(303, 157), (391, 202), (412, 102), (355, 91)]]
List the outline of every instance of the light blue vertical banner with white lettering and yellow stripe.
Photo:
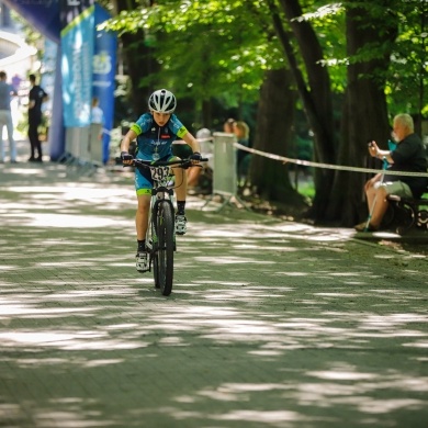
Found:
[(64, 124), (83, 127), (91, 123), (93, 0), (63, 0), (60, 21)]

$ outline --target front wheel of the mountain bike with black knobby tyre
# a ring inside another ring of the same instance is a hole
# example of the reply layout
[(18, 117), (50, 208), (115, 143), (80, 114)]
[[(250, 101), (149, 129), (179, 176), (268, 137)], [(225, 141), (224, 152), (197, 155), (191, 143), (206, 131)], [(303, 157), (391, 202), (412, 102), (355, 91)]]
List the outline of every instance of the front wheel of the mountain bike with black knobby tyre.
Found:
[(173, 213), (168, 202), (160, 202), (156, 222), (158, 235), (157, 284), (164, 295), (170, 295), (173, 278)]

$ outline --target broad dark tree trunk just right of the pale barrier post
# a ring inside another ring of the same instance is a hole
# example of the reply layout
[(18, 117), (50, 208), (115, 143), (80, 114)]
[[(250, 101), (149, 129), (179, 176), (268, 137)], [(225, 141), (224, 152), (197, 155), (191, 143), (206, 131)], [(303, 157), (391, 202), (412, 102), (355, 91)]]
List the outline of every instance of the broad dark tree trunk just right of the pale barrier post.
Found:
[[(292, 76), (285, 69), (271, 70), (260, 89), (257, 132), (254, 147), (258, 150), (285, 156), (293, 137), (296, 93), (290, 90)], [(302, 201), (292, 188), (288, 167), (278, 160), (254, 156), (250, 182), (263, 199), (277, 202)]]

